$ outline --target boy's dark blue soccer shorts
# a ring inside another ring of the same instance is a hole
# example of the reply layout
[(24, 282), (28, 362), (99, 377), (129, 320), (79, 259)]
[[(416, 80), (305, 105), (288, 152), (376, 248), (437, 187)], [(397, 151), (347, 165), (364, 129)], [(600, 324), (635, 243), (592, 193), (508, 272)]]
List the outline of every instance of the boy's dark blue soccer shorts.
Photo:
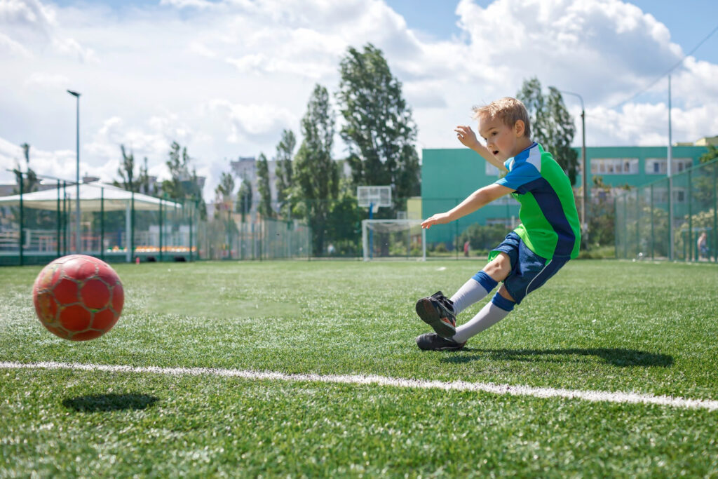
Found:
[(526, 243), (523, 243), (521, 237), (513, 231), (506, 235), (499, 246), (493, 248), (489, 254), (489, 261), (499, 253), (508, 254), (511, 261), (511, 272), (503, 280), (503, 285), (516, 304), (519, 304), (526, 294), (541, 287), (569, 261), (568, 258), (546, 259), (538, 256), (528, 249)]

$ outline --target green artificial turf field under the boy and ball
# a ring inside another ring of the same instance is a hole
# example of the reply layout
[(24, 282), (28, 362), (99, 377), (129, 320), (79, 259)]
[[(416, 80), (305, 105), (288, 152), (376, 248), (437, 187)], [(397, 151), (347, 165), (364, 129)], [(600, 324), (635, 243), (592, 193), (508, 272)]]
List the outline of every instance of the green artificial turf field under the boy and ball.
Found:
[(116, 265), (122, 317), (87, 343), (37, 321), (39, 267), (1, 268), (0, 477), (718, 475), (718, 266), (572, 261), (464, 350), (416, 348), (416, 299), (482, 266)]

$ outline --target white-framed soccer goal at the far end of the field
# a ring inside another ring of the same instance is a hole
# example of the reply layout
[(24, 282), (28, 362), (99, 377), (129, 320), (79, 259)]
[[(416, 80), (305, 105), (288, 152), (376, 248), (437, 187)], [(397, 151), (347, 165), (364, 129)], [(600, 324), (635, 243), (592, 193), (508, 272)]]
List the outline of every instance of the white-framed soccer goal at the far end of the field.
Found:
[[(369, 241), (370, 233), (373, 241)], [(426, 260), (426, 230), (421, 228), (421, 220), (363, 220), (361, 243), (364, 261)]]

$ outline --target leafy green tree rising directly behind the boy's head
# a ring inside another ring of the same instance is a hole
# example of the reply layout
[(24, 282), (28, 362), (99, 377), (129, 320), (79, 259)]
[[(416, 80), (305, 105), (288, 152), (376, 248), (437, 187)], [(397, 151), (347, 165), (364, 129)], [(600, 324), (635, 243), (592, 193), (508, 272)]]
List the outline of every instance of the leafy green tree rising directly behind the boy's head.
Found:
[(554, 155), (571, 184), (575, 185), (579, 162), (578, 152), (571, 147), (571, 143), (576, 134), (576, 126), (564, 105), (561, 92), (549, 87), (549, 94), (544, 95), (538, 79), (531, 78), (523, 81), (521, 91), (516, 97), (528, 110), (533, 139)]

